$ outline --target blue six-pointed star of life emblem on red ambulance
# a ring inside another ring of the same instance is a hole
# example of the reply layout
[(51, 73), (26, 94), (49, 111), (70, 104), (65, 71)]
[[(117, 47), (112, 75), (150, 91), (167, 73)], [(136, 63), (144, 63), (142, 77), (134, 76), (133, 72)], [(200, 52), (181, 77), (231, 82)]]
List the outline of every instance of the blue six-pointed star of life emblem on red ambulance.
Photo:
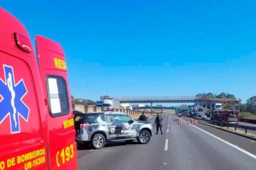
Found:
[(15, 84), (13, 67), (4, 65), (3, 69), (5, 80), (0, 78), (0, 124), (9, 116), (11, 133), (18, 133), (20, 117), (28, 121), (29, 108), (22, 101), (27, 89), (23, 79)]

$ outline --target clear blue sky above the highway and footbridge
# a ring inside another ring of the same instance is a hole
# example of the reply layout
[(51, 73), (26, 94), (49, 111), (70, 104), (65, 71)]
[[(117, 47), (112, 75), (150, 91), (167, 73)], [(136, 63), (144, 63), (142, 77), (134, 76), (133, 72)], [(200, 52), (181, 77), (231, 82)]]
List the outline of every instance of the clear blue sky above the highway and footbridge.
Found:
[(60, 42), (71, 94), (256, 95), (256, 1), (0, 2), (27, 27)]

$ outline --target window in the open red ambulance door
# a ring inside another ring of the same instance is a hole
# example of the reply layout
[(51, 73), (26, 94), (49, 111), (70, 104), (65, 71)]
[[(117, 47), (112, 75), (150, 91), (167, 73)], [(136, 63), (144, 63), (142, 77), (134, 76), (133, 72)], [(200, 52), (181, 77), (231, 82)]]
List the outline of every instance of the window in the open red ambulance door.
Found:
[(57, 76), (47, 77), (49, 111), (55, 116), (69, 114), (68, 92), (64, 78)]

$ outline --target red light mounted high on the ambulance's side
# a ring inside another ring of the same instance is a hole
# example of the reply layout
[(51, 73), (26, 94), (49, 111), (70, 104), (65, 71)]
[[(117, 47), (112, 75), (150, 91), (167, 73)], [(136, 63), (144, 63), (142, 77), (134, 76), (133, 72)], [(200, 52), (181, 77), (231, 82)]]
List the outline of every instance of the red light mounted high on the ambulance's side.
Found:
[(32, 51), (32, 45), (29, 38), (22, 34), (14, 33), (14, 39), (16, 46), (23, 52), (30, 53)]

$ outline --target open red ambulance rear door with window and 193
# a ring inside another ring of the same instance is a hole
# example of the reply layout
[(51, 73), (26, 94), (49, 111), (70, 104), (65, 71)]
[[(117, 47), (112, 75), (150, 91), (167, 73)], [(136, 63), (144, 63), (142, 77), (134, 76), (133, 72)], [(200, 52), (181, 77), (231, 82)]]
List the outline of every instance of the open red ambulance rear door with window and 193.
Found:
[(77, 169), (75, 128), (69, 92), (67, 66), (60, 44), (36, 36), (39, 70), (49, 127), (49, 157), (52, 169)]

